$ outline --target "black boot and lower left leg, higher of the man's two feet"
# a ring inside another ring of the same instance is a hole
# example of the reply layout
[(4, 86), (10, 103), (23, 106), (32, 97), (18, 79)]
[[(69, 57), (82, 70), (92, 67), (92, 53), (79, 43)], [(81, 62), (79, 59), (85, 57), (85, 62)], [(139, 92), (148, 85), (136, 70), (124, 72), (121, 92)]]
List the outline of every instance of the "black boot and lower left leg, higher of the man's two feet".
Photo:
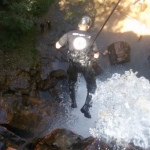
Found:
[(71, 98), (71, 101), (72, 101), (71, 107), (72, 108), (77, 108), (75, 83), (71, 83), (69, 85), (69, 93), (70, 93), (70, 98)]

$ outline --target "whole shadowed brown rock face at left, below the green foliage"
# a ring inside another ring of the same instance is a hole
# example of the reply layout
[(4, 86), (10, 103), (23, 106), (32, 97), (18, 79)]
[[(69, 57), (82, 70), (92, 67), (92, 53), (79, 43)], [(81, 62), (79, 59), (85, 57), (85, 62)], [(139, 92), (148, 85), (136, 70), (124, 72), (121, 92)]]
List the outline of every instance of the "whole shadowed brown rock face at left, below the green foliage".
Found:
[[(48, 126), (52, 128), (56, 116), (63, 116), (58, 110), (63, 110), (59, 106), (60, 90), (55, 86), (67, 78), (66, 72), (54, 70), (42, 79), (39, 68), (34, 70), (33, 74), (33, 69), (8, 69), (1, 74), (1, 79), (5, 80), (0, 80), (0, 124), (22, 137), (33, 137)], [(41, 99), (39, 91), (48, 91), (52, 98)], [(53, 125), (49, 125), (50, 122)]]

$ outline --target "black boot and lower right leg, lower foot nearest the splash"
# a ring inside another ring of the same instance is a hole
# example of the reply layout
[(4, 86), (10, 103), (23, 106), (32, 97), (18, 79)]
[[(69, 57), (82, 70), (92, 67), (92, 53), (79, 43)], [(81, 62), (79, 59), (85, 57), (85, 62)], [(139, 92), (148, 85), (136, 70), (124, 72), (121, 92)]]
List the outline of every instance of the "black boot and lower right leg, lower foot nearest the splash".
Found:
[(91, 100), (92, 100), (92, 94), (88, 93), (87, 97), (86, 97), (85, 104), (81, 108), (81, 112), (84, 114), (84, 116), (86, 118), (91, 118), (91, 114), (89, 112), (89, 108), (92, 107)]

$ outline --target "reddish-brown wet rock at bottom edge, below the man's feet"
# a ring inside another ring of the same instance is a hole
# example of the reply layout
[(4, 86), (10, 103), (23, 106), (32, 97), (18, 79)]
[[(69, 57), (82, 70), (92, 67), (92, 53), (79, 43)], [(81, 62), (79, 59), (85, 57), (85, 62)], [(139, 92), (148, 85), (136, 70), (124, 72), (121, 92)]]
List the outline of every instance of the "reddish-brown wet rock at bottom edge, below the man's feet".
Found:
[(35, 142), (34, 150), (98, 150), (107, 149), (108, 144), (94, 137), (83, 138), (71, 130), (55, 129)]

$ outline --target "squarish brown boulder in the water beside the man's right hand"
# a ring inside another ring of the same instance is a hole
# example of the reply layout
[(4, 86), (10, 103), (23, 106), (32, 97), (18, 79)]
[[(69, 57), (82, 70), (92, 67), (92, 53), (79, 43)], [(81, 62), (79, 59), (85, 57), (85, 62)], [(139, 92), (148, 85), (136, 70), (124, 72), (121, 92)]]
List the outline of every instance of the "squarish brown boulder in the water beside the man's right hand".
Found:
[(112, 43), (107, 47), (108, 57), (111, 65), (126, 63), (130, 61), (130, 45), (124, 41)]

